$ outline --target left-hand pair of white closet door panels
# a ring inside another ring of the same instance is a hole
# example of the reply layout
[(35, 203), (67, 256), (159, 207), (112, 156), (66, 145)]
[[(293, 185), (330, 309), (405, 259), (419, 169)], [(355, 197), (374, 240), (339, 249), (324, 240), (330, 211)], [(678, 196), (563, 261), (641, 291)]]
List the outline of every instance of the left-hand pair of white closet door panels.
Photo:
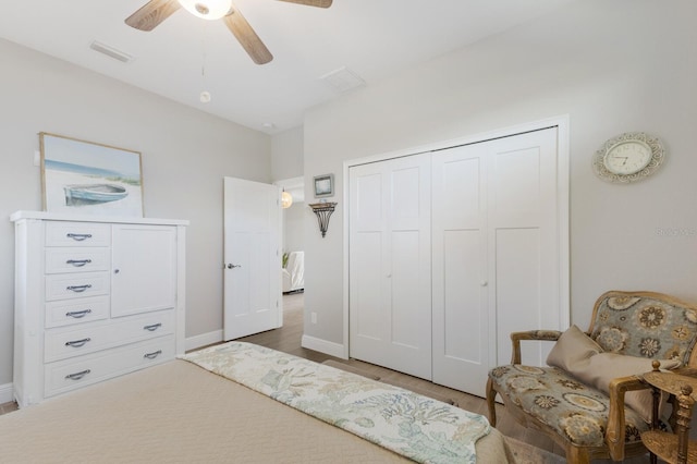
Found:
[(430, 155), (348, 175), (350, 355), (430, 379)]

